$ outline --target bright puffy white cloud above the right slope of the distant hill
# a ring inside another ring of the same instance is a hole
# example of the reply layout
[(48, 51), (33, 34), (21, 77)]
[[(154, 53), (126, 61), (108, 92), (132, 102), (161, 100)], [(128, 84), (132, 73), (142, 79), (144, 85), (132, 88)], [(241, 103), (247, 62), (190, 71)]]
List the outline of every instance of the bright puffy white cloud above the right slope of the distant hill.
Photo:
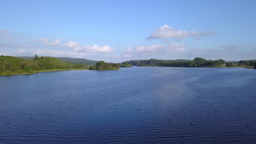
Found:
[(78, 42), (69, 41), (67, 44), (64, 45), (65, 47), (72, 48), (74, 51), (77, 52), (113, 52), (114, 50), (112, 47), (105, 45), (105, 46), (98, 46), (98, 45), (80, 45)]

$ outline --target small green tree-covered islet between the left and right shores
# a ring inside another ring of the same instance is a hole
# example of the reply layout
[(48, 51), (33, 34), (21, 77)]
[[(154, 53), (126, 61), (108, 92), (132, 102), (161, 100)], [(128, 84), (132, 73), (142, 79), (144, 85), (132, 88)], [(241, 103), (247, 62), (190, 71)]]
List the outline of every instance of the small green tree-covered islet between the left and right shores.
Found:
[(106, 63), (104, 61), (98, 61), (95, 65), (92, 65), (89, 70), (118, 70), (120, 65), (118, 63)]

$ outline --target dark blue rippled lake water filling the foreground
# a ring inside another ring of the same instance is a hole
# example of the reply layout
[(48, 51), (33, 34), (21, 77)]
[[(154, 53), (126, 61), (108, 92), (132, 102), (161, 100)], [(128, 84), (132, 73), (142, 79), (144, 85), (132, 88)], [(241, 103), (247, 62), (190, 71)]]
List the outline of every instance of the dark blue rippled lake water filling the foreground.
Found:
[(0, 143), (256, 143), (256, 70), (0, 76)]

